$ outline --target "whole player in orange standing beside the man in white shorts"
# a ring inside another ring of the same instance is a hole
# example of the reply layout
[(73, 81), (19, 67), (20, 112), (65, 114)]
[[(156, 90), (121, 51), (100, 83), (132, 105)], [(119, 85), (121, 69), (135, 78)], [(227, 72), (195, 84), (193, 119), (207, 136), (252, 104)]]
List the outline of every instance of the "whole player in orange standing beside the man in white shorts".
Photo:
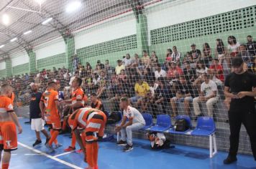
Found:
[(42, 98), (40, 102), (40, 110), (42, 112), (42, 118), (47, 117), (46, 121), (52, 125), (52, 129), (50, 130), (51, 138), (49, 142), (46, 143), (46, 147), (50, 150), (50, 153), (54, 151), (54, 149), (52, 148), (53, 142), (55, 142), (57, 148), (61, 146), (57, 142), (57, 137), (61, 130), (61, 122), (60, 122), (61, 110), (60, 110), (60, 102), (58, 100), (58, 92), (56, 90), (57, 90), (56, 82), (49, 82), (47, 90), (45, 90), (45, 92), (42, 94)]

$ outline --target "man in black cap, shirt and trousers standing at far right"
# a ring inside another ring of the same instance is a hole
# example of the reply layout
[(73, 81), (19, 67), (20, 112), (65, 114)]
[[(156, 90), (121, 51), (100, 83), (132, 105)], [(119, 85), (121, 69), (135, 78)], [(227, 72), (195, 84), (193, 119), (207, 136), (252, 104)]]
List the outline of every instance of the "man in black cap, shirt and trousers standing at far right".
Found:
[(225, 80), (224, 94), (231, 98), (229, 108), (230, 148), (224, 164), (237, 161), (237, 150), (239, 145), (239, 132), (243, 124), (250, 137), (253, 156), (256, 160), (256, 112), (254, 98), (256, 90), (256, 76), (243, 70), (241, 57), (232, 59), (234, 72), (229, 74)]

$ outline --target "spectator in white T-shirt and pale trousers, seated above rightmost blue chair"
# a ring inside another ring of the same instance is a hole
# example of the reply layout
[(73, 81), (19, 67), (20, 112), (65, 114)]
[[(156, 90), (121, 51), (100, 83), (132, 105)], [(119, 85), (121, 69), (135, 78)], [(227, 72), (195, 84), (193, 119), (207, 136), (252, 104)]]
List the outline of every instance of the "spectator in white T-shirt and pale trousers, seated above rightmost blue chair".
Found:
[(209, 117), (213, 117), (214, 105), (219, 101), (218, 88), (214, 81), (209, 77), (209, 74), (204, 73), (204, 82), (201, 84), (199, 97), (193, 99), (193, 110), (196, 116), (201, 116), (199, 103), (206, 102), (207, 112)]

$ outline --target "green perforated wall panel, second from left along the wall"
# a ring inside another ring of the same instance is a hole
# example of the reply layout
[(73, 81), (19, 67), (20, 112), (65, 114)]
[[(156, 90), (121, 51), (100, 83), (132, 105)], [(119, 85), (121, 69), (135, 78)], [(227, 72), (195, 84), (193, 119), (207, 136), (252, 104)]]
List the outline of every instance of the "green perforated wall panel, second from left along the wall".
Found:
[(37, 70), (67, 67), (65, 53), (37, 60)]

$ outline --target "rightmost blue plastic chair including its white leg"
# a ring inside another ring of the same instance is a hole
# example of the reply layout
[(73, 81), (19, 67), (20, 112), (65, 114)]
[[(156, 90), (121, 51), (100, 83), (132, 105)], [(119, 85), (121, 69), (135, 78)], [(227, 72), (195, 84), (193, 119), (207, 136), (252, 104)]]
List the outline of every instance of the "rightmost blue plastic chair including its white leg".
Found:
[(199, 117), (197, 120), (196, 129), (191, 132), (191, 135), (209, 137), (209, 154), (210, 158), (217, 153), (216, 145), (216, 127), (212, 117)]

